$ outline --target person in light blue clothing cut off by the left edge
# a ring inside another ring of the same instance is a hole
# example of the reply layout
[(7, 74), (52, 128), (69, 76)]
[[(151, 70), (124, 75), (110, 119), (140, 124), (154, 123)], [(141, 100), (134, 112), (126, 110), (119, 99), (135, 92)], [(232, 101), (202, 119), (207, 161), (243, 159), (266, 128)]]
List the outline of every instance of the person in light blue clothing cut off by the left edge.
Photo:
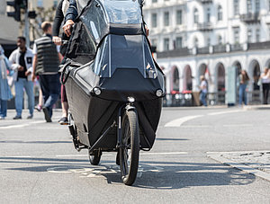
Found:
[(4, 120), (7, 111), (7, 101), (13, 98), (7, 83), (7, 71), (12, 74), (8, 59), (4, 56), (4, 49), (0, 45), (0, 120)]

